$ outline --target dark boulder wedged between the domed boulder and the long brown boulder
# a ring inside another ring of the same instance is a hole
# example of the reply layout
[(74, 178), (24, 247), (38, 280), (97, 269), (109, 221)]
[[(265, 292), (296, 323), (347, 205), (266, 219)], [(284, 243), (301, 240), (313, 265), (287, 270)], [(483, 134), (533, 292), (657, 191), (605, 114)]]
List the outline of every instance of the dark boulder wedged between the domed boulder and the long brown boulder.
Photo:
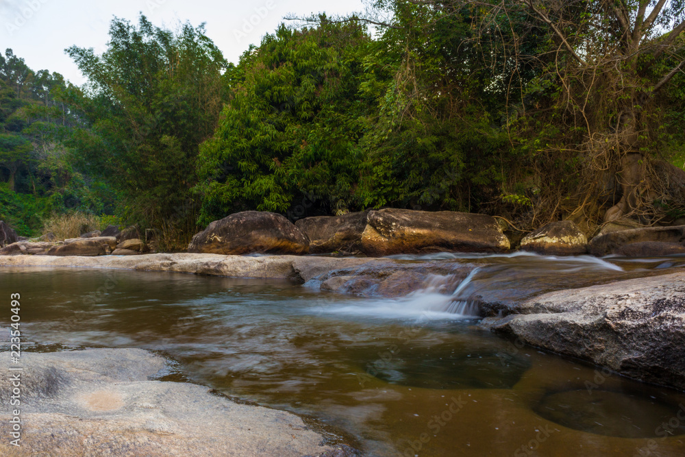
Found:
[(309, 238), (311, 254), (327, 252), (355, 253), (362, 249), (362, 233), (368, 211), (343, 216), (316, 216), (299, 219), (295, 226)]

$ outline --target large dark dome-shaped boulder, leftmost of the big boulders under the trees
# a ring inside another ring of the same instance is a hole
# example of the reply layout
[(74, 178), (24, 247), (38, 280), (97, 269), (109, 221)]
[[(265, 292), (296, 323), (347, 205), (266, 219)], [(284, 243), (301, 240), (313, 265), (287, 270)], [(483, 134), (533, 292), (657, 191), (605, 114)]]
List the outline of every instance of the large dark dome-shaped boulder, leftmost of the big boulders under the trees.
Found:
[(210, 254), (307, 254), (308, 238), (280, 214), (236, 212), (192, 237), (188, 252)]

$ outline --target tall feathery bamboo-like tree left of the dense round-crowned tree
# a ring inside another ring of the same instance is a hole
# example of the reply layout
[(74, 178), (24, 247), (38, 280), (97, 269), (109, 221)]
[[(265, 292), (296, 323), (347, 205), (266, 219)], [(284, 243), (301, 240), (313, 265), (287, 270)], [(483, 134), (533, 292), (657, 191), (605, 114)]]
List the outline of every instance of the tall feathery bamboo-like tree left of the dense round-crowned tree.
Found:
[(111, 182), (127, 217), (160, 230), (163, 247), (184, 248), (197, 220), (199, 145), (223, 106), (221, 52), (203, 25), (172, 32), (145, 16), (138, 27), (115, 18), (102, 55), (66, 51), (88, 78), (67, 96), (84, 122), (68, 141), (80, 168)]

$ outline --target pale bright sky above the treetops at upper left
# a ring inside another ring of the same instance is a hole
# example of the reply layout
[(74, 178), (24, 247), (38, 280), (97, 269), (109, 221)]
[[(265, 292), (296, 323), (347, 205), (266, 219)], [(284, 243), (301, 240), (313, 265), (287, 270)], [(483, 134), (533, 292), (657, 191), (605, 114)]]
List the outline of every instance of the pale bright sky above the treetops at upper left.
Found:
[(114, 16), (137, 24), (142, 12), (154, 25), (171, 29), (179, 21), (206, 23), (207, 36), (237, 63), (285, 16), (363, 10), (362, 0), (0, 0), (0, 53), (11, 48), (30, 69), (56, 71), (80, 85), (84, 78), (64, 49), (77, 45), (102, 53)]

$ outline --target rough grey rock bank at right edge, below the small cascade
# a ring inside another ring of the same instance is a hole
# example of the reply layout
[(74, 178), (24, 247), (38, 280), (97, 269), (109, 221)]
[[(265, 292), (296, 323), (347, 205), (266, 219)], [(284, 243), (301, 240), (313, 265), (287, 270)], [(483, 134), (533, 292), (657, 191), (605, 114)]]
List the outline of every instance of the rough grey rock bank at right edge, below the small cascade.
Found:
[(645, 382), (685, 388), (685, 272), (547, 293), (483, 325)]

